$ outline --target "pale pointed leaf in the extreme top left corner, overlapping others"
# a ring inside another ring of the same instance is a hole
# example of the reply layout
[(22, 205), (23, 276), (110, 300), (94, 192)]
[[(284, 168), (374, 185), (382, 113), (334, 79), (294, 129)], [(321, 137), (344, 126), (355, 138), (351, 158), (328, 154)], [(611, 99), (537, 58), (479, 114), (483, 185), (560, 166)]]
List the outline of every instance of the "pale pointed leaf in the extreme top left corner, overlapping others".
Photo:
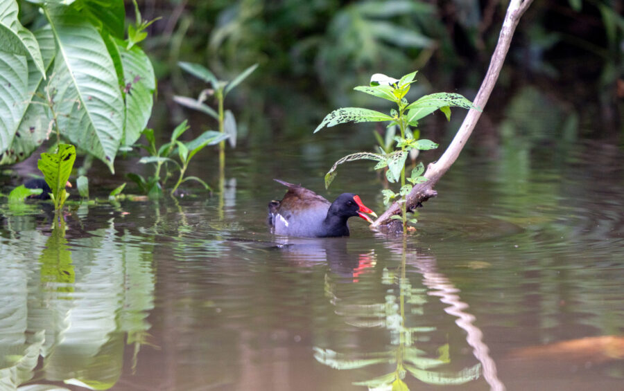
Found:
[(17, 1), (0, 1), (0, 51), (30, 57), (42, 78), (45, 78), (46, 70), (39, 43), (30, 30), (21, 26), (17, 19), (18, 12)]

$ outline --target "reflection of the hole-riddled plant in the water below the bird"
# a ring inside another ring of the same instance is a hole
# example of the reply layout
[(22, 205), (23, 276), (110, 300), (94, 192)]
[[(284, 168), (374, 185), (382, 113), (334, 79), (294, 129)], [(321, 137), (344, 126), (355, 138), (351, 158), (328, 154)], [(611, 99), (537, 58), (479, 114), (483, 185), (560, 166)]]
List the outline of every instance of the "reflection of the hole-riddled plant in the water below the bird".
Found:
[(380, 364), (396, 365), (396, 369), (389, 374), (353, 383), (367, 386), (370, 390), (409, 390), (403, 381), (407, 373), (419, 381), (435, 385), (462, 384), (478, 379), (481, 372), (480, 363), (458, 372), (431, 370), (451, 362), (449, 343), (438, 347), (437, 358), (427, 356), (427, 352), (415, 347), (417, 341), (426, 340), (423, 334), (435, 331), (436, 327), (406, 325), (406, 313), (410, 313), (411, 316), (424, 314), (428, 291), (412, 287), (410, 280), (405, 277), (404, 267), (403, 263), (401, 265), (403, 269), (399, 269), (396, 273), (388, 269), (383, 270), (381, 283), (396, 288), (386, 291), (385, 302), (373, 304), (345, 303), (336, 295), (336, 286), (329, 282), (327, 275), (325, 276), (325, 295), (336, 307), (335, 313), (343, 316), (348, 325), (361, 328), (384, 327), (390, 332), (392, 348), (385, 352), (346, 354), (314, 347), (314, 358), (338, 370), (353, 370)]

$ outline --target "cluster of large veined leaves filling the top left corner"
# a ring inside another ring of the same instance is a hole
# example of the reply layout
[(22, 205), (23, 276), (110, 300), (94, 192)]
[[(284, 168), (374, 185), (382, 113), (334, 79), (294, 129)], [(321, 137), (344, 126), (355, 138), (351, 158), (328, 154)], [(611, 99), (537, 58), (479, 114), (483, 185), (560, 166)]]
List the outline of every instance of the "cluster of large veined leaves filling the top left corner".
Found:
[(57, 131), (114, 172), (153, 105), (153, 67), (137, 46), (150, 22), (137, 13), (124, 40), (123, 0), (29, 3), (39, 11), (33, 31), (17, 1), (0, 1), (0, 164), (24, 160)]

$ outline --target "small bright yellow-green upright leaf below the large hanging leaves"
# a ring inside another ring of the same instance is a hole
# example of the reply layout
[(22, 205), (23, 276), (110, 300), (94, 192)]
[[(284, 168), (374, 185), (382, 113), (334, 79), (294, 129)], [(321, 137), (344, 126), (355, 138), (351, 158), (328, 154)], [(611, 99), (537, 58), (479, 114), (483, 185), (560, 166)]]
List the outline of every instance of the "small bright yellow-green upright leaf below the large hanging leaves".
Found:
[[(52, 190), (53, 199), (62, 200), (58, 206), (62, 206), (66, 198), (65, 183), (69, 181), (75, 160), (76, 147), (69, 144), (59, 144), (57, 153), (43, 153), (37, 161), (37, 167), (44, 174), (44, 179)], [(55, 205), (57, 204), (55, 203)]]

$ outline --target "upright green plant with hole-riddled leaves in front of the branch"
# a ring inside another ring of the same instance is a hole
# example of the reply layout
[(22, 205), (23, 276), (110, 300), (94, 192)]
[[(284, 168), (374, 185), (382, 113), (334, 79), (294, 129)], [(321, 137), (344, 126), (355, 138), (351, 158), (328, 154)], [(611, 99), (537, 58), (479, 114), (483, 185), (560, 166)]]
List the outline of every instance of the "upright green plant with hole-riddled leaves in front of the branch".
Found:
[[(381, 170), (387, 167), (388, 170), (386, 170), (385, 176), (388, 178), (388, 181), (391, 183), (400, 183), (401, 185), (398, 192), (389, 189), (383, 190), (383, 199), (386, 205), (392, 200), (398, 200), (399, 203), (401, 203), (402, 214), (396, 218), (403, 221), (404, 233), (406, 233), (408, 223), (405, 202), (406, 196), (412, 190), (413, 185), (427, 180), (422, 176), (424, 172), (424, 165), (422, 163), (419, 163), (412, 170), (410, 176), (406, 177), (405, 165), (408, 153), (413, 149), (426, 150), (437, 148), (437, 143), (431, 140), (419, 139), (420, 132), (417, 129), (418, 121), (433, 113), (435, 110), (442, 111), (442, 113), (447, 116), (447, 120), (450, 120), (451, 107), (463, 107), (465, 109), (476, 108), (469, 100), (458, 93), (433, 93), (423, 96), (415, 100), (415, 102), (408, 102), (405, 96), (410, 91), (410, 85), (416, 81), (416, 72), (417, 71), (408, 73), (399, 80), (390, 78), (381, 73), (376, 73), (372, 75), (370, 79), (370, 86), (355, 87), (356, 91), (368, 93), (377, 98), (390, 100), (397, 104), (397, 109), (392, 109), (390, 115), (371, 109), (363, 109), (361, 107), (343, 107), (327, 114), (320, 125), (314, 130), (314, 133), (316, 133), (323, 127), (332, 127), (345, 122), (388, 121), (390, 122), (388, 127), (395, 125), (399, 127), (400, 135), (394, 137), (396, 143), (394, 149), (390, 149), (390, 145), (383, 143), (379, 154), (358, 152), (341, 158), (336, 161), (327, 174), (325, 174), (325, 187), (328, 188), (331, 181), (336, 177), (338, 165), (347, 161), (361, 159), (377, 161), (374, 167), (375, 170)], [(415, 222), (413, 219), (412, 221)]]

